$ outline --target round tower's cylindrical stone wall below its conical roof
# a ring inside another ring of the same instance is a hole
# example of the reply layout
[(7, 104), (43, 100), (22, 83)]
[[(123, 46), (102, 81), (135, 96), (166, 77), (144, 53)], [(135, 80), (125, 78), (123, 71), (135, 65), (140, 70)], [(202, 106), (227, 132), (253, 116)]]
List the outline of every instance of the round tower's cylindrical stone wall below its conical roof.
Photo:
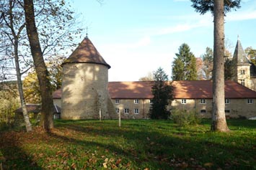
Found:
[(109, 118), (107, 112), (108, 68), (90, 63), (63, 65), (61, 118)]

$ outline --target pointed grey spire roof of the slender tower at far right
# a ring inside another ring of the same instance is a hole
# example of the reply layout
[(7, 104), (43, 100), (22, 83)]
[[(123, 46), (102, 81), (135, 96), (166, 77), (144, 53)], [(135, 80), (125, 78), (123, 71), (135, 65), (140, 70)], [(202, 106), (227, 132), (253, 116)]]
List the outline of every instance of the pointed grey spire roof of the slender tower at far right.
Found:
[(237, 39), (236, 49), (234, 49), (233, 60), (237, 65), (250, 65), (239, 39)]

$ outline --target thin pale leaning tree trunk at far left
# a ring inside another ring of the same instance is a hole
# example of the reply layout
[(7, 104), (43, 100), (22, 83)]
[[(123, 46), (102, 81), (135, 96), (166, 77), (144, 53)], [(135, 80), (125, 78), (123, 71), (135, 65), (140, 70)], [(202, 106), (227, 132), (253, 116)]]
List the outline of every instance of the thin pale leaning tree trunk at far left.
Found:
[(23, 93), (23, 87), (22, 87), (22, 75), (19, 70), (19, 57), (18, 57), (18, 38), (14, 35), (14, 58), (15, 58), (15, 67), (16, 67), (16, 73), (17, 73), (17, 83), (18, 83), (18, 90), (19, 90), (19, 99), (20, 103), (22, 105), (22, 113), (23, 118), (25, 121), (25, 126), (27, 132), (32, 131), (32, 125), (30, 123), (30, 117), (27, 113), (24, 93)]

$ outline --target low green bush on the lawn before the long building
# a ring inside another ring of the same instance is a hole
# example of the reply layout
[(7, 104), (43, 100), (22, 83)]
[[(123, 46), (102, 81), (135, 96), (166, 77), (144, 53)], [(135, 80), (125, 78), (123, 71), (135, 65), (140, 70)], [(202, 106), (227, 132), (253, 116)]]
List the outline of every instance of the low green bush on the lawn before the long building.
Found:
[(178, 110), (174, 108), (172, 110), (172, 120), (179, 126), (191, 126), (200, 123), (200, 115), (195, 110)]

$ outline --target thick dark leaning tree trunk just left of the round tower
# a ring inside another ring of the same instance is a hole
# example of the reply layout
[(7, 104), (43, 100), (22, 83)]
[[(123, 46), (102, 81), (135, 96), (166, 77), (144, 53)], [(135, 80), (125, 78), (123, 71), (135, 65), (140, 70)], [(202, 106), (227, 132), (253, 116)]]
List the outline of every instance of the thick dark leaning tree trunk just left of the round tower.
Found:
[(43, 59), (37, 28), (35, 27), (35, 12), (33, 0), (24, 0), (25, 20), (27, 36), (30, 41), (30, 49), (37, 72), (42, 98), (41, 125), (45, 131), (53, 128), (53, 98), (50, 94), (50, 80), (48, 70)]

